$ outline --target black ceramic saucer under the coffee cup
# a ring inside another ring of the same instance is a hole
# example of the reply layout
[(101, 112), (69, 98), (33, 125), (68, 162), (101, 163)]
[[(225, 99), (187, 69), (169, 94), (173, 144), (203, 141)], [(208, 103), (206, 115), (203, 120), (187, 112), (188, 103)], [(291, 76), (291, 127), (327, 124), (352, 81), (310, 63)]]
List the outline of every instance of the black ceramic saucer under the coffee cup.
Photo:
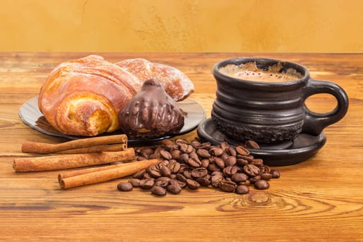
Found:
[[(211, 142), (212, 145), (219, 145), (223, 141), (227, 142), (225, 135), (216, 130), (216, 126), (210, 118), (199, 124), (197, 133), (199, 138)], [(293, 165), (315, 155), (315, 153), (325, 145), (325, 142), (326, 135), (324, 132), (320, 133), (319, 136), (310, 136), (307, 133), (300, 133), (297, 138), (292, 140), (292, 144), (287, 148), (280, 149), (281, 147), (278, 146), (270, 146), (249, 150), (254, 157), (262, 158), (266, 165)]]

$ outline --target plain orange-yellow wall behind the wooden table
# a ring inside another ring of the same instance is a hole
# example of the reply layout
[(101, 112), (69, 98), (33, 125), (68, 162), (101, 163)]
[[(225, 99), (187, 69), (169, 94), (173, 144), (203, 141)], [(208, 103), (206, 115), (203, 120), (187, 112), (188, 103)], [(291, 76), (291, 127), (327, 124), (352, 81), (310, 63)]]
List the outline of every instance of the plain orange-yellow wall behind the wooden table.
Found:
[(1, 0), (0, 51), (362, 52), (363, 1)]

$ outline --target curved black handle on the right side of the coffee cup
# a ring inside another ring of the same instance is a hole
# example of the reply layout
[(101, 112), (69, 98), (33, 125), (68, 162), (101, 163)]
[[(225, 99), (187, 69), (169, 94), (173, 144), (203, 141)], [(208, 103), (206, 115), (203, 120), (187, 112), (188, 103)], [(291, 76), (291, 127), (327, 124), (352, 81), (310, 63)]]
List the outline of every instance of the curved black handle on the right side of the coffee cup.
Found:
[(328, 113), (315, 113), (310, 111), (304, 104), (305, 118), (302, 127), (302, 133), (308, 133), (317, 136), (322, 133), (323, 129), (330, 124), (341, 120), (348, 111), (348, 95), (342, 87), (333, 82), (314, 80), (310, 78), (304, 88), (304, 102), (310, 95), (318, 93), (328, 93), (335, 97), (337, 106)]

